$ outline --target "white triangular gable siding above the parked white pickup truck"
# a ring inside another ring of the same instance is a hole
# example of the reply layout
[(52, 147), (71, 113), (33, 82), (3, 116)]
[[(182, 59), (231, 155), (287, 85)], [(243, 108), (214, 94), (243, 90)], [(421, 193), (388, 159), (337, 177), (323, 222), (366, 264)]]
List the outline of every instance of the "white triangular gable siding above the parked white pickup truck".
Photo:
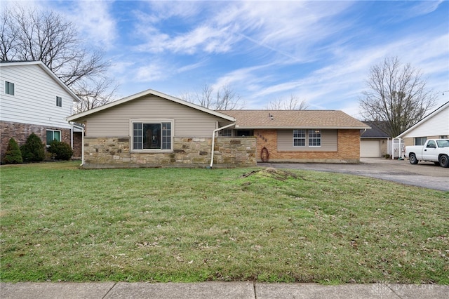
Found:
[(449, 135), (449, 106), (442, 109), (422, 124), (410, 130), (402, 138), (429, 137), (438, 135)]

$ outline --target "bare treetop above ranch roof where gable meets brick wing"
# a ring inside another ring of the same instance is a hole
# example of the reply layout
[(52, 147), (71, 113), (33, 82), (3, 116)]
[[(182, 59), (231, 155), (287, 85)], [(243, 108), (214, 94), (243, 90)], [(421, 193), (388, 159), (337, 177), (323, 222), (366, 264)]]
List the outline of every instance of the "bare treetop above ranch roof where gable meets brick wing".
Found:
[(214, 88), (208, 84), (204, 84), (201, 92), (184, 93), (181, 95), (182, 100), (193, 102), (202, 107), (213, 110), (233, 110), (242, 109), (243, 103), (241, 98), (229, 85)]

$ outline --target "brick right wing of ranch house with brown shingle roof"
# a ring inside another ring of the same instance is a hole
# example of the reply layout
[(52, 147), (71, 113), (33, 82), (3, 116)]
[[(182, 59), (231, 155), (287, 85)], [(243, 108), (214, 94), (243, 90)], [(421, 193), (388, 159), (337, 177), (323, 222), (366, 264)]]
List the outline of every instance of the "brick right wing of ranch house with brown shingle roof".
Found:
[(257, 161), (358, 163), (360, 130), (370, 126), (335, 110), (227, 110), (232, 136), (257, 138)]

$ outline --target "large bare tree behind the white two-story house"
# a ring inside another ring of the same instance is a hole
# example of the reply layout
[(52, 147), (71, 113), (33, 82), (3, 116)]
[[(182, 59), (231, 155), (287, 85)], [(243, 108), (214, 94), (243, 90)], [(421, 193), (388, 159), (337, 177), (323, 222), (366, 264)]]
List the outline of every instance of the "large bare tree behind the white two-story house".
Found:
[[(100, 51), (83, 48), (82, 41), (72, 22), (52, 11), (26, 10), (20, 6), (6, 8), (0, 16), (1, 60), (41, 60), (74, 93), (81, 98), (83, 107), (92, 106), (91, 98), (97, 94), (95, 103), (112, 100), (116, 86), (105, 79), (109, 62)], [(95, 86), (95, 84), (99, 84)]]

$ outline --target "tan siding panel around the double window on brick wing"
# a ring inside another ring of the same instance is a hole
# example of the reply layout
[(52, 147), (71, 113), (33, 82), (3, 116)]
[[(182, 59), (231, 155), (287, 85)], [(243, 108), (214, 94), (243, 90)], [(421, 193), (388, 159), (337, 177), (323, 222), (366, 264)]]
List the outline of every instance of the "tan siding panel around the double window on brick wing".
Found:
[(293, 130), (278, 131), (278, 150), (279, 151), (336, 151), (338, 142), (337, 130), (321, 130), (321, 147), (309, 147), (309, 135), (306, 130), (306, 146), (293, 147)]

